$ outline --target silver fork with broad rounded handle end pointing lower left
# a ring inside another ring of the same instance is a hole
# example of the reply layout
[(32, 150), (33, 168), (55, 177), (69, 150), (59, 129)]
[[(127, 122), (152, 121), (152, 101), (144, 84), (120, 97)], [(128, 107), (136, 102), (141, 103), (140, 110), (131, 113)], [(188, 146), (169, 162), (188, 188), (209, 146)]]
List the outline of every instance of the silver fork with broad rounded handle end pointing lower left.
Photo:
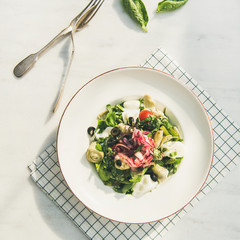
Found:
[[(82, 29), (87, 23), (92, 19), (92, 17), (96, 14), (100, 6), (104, 0), (91, 0), (89, 4), (80, 12), (71, 22), (70, 24), (64, 28), (59, 34), (57, 34), (48, 44), (46, 44), (42, 49), (38, 52), (30, 54), (28, 57), (19, 62), (13, 70), (13, 73), (16, 77), (22, 77), (27, 71), (29, 71), (39, 57), (49, 49), (54, 43), (57, 42), (62, 37), (65, 37), (69, 33), (74, 33), (77, 30)], [(72, 34), (71, 34), (72, 35)], [(71, 36), (72, 38), (72, 36)], [(73, 45), (74, 48), (74, 45)]]

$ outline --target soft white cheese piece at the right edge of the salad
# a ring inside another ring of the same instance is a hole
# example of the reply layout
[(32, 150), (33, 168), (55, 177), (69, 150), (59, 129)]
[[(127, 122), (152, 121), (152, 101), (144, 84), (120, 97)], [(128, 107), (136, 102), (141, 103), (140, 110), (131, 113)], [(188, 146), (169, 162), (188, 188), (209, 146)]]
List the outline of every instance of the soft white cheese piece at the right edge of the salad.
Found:
[(166, 149), (166, 151), (163, 152), (163, 156), (165, 157), (180, 158), (184, 156), (184, 144), (182, 142), (169, 141), (164, 143), (161, 147)]

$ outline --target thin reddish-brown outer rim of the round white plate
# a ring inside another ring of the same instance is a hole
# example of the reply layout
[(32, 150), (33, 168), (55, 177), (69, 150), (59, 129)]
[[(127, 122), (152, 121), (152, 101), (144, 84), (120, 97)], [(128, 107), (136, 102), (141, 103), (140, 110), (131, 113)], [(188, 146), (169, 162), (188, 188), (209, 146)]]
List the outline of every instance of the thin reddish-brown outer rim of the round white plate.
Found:
[[(64, 115), (69, 107), (69, 105), (71, 104), (71, 102), (73, 101), (73, 99), (76, 97), (77, 94), (79, 94), (79, 92), (85, 88), (89, 83), (93, 82), (94, 80), (97, 80), (98, 78), (100, 78), (101, 76), (103, 75), (106, 75), (106, 74), (109, 74), (109, 73), (112, 73), (112, 72), (116, 72), (116, 71), (121, 71), (121, 70), (127, 70), (127, 69), (132, 69), (132, 70), (149, 70), (149, 71), (155, 71), (155, 72), (158, 72), (158, 73), (161, 73), (163, 75), (167, 75), (169, 77), (171, 77), (173, 80), (177, 81), (178, 83), (180, 83), (190, 94), (193, 95), (193, 97), (198, 100), (199, 104), (201, 105), (202, 109), (204, 110), (204, 113), (205, 113), (205, 116), (207, 117), (207, 120), (208, 120), (208, 124), (209, 124), (209, 128), (210, 128), (210, 133), (211, 133), (211, 142), (212, 142), (212, 146), (211, 146), (211, 150), (212, 150), (212, 156), (211, 156), (211, 162), (210, 162), (210, 165), (209, 165), (209, 169), (207, 171), (207, 174), (206, 174), (206, 177), (201, 185), (201, 187), (199, 188), (199, 190), (194, 194), (194, 196), (184, 205), (182, 206), (181, 208), (179, 208), (178, 210), (176, 210), (175, 212), (165, 216), (165, 217), (162, 217), (162, 218), (159, 218), (159, 219), (155, 219), (155, 220), (152, 220), (152, 221), (143, 221), (143, 222), (127, 222), (127, 221), (120, 221), (120, 220), (116, 220), (116, 219), (113, 219), (113, 218), (110, 218), (110, 217), (107, 217), (107, 216), (104, 216), (100, 213), (98, 213), (97, 211), (91, 209), (90, 207), (88, 207), (86, 205), (86, 203), (82, 202), (81, 199), (79, 199), (76, 194), (72, 191), (71, 187), (69, 186), (68, 182), (67, 182), (67, 179), (65, 178), (64, 174), (63, 174), (63, 171), (62, 171), (62, 168), (61, 168), (61, 163), (60, 163), (60, 158), (59, 158), (59, 152), (58, 152), (58, 149), (59, 149), (59, 145), (58, 145), (58, 140), (59, 140), (59, 132), (60, 132), (60, 127), (61, 127), (61, 123), (62, 123), (62, 120), (64, 118)], [(212, 123), (211, 123), (211, 120), (210, 120), (210, 117), (209, 117), (209, 114), (206, 110), (206, 108), (204, 107), (203, 103), (201, 102), (201, 100), (199, 99), (199, 97), (186, 85), (184, 84), (183, 82), (181, 82), (180, 79), (174, 77), (173, 75), (167, 73), (167, 72), (164, 72), (162, 70), (159, 70), (159, 69), (155, 69), (155, 68), (151, 68), (151, 67), (144, 67), (144, 66), (125, 66), (125, 67), (118, 67), (118, 68), (114, 68), (114, 69), (111, 69), (111, 70), (108, 70), (108, 71), (105, 71), (101, 74), (98, 74), (96, 75), (95, 77), (91, 78), (89, 81), (87, 81), (86, 83), (84, 83), (76, 92), (75, 94), (73, 94), (73, 96), (70, 98), (70, 100), (68, 101), (66, 107), (64, 108), (63, 112), (62, 112), (62, 115), (61, 115), (61, 118), (59, 120), (59, 123), (58, 123), (58, 127), (57, 127), (57, 137), (56, 137), (56, 155), (57, 155), (57, 161), (58, 161), (58, 165), (59, 165), (59, 169), (60, 169), (60, 172), (62, 174), (62, 177), (64, 179), (64, 182), (66, 183), (67, 187), (69, 188), (69, 190), (72, 192), (72, 194), (86, 207), (88, 208), (89, 210), (91, 210), (92, 212), (96, 213), (97, 215), (101, 216), (101, 217), (104, 217), (108, 220), (111, 220), (111, 221), (115, 221), (115, 222), (119, 222), (119, 223), (124, 223), (124, 224), (146, 224), (146, 223), (153, 223), (153, 222), (157, 222), (157, 221), (162, 221), (166, 218), (169, 218), (170, 216), (173, 216), (174, 214), (178, 213), (179, 211), (181, 211), (183, 208), (185, 208), (187, 205), (189, 205), (195, 198), (196, 196), (199, 194), (199, 192), (202, 190), (203, 186), (205, 185), (208, 177), (209, 177), (209, 174), (210, 174), (210, 171), (212, 169), (212, 165), (213, 165), (213, 160), (214, 160), (214, 150), (215, 150), (215, 139), (214, 139), (214, 133), (213, 133), (213, 127), (212, 127)]]

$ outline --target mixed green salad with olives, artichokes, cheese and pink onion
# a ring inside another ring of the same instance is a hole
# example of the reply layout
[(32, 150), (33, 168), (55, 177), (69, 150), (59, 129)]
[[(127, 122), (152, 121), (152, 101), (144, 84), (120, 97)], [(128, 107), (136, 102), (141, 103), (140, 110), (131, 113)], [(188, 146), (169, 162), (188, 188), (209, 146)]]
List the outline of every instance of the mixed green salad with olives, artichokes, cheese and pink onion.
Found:
[(86, 156), (105, 185), (141, 196), (177, 172), (184, 156), (179, 130), (149, 95), (106, 106), (89, 127)]

